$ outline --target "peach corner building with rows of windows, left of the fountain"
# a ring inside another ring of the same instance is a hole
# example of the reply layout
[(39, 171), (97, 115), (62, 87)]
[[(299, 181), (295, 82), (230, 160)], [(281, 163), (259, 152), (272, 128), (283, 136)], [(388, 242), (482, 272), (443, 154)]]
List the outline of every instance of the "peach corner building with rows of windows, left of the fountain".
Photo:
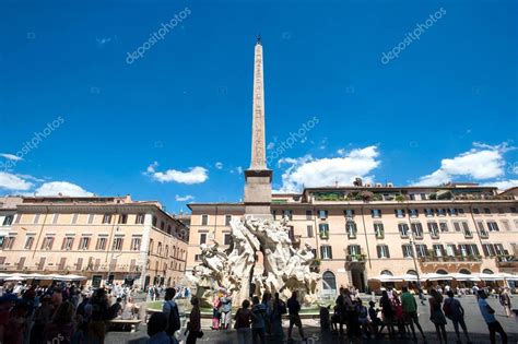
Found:
[(185, 275), (188, 228), (151, 203), (24, 203), (16, 213), (0, 249), (3, 271), (73, 273), (89, 283), (114, 275), (139, 286), (174, 285)]

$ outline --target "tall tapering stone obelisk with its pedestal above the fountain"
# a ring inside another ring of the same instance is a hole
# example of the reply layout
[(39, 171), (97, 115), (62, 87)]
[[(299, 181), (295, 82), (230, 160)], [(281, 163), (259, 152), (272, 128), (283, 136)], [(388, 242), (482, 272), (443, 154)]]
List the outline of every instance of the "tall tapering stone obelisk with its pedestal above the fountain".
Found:
[(271, 217), (272, 170), (268, 169), (264, 143), (264, 79), (261, 37), (254, 58), (254, 105), (251, 121), (251, 161), (245, 170), (245, 215)]

